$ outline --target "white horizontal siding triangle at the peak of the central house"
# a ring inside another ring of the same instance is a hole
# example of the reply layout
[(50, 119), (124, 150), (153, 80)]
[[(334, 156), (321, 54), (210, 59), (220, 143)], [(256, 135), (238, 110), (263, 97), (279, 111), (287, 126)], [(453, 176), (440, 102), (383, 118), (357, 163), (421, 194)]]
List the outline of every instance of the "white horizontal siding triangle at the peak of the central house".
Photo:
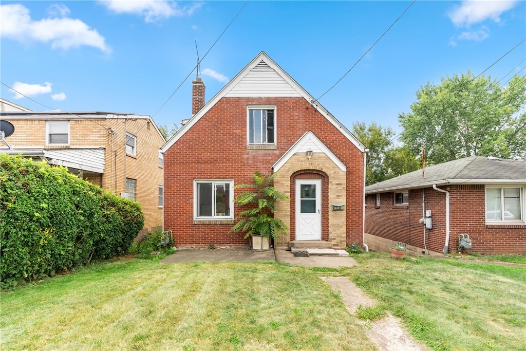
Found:
[(227, 97), (301, 97), (285, 79), (261, 61), (225, 95)]

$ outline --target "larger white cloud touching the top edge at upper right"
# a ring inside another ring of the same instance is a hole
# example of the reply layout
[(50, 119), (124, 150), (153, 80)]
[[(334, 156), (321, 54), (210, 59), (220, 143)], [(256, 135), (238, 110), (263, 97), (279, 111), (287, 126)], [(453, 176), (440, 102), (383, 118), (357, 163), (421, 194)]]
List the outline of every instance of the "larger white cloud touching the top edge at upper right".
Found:
[(470, 26), (486, 19), (501, 21), (500, 15), (517, 5), (518, 1), (463, 1), (448, 15), (457, 27)]

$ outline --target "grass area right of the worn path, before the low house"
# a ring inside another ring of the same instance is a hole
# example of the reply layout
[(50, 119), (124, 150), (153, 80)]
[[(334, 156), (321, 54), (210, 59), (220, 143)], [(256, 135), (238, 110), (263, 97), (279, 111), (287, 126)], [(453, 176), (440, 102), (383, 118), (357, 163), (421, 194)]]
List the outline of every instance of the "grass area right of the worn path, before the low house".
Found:
[(371, 253), (351, 280), (436, 350), (526, 350), (526, 268)]

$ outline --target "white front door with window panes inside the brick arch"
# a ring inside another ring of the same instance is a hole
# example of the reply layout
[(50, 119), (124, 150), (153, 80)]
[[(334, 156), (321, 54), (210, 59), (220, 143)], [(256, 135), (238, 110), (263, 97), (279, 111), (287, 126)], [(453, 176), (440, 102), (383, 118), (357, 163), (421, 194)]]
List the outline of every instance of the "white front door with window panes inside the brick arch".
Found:
[(296, 179), (296, 240), (321, 240), (321, 179)]

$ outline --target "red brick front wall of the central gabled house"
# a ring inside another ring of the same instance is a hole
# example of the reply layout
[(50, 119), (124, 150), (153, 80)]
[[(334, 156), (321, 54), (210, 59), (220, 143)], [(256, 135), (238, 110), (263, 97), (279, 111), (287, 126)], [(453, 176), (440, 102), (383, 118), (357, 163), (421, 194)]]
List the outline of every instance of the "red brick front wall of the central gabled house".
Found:
[[(248, 105), (276, 106), (276, 149), (247, 149)], [(347, 242), (362, 243), (363, 154), (304, 98), (224, 97), (164, 156), (164, 228), (173, 230), (176, 245), (247, 245), (243, 234), (229, 233), (232, 222), (193, 224), (193, 180), (250, 183), (255, 171), (270, 174), (279, 157), (309, 130), (348, 167)]]

